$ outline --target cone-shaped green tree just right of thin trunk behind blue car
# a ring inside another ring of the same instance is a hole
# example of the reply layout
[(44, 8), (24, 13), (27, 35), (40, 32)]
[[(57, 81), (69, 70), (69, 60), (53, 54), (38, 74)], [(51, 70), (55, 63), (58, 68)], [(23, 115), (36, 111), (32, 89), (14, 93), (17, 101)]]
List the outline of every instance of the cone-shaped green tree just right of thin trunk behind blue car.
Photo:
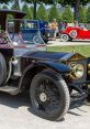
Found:
[(38, 20), (44, 20), (44, 21), (48, 21), (48, 15), (47, 15), (47, 11), (44, 7), (44, 4), (41, 4), (37, 9), (37, 19)]

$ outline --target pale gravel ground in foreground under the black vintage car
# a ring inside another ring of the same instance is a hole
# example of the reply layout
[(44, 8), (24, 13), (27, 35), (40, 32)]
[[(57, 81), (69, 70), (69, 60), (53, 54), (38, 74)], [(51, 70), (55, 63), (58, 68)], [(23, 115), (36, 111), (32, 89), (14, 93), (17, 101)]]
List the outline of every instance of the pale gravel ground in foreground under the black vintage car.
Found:
[(61, 121), (35, 116), (25, 96), (0, 93), (0, 129), (90, 129), (90, 104), (70, 109)]

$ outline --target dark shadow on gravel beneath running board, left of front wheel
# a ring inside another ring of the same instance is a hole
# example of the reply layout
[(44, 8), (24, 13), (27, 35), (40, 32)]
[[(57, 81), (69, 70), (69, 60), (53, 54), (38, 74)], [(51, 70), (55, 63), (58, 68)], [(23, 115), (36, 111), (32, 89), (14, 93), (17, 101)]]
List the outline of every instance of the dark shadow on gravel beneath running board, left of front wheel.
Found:
[(9, 94), (0, 93), (0, 104), (9, 106), (11, 108), (19, 108), (21, 106), (31, 106), (29, 95), (21, 94), (18, 96), (11, 96)]

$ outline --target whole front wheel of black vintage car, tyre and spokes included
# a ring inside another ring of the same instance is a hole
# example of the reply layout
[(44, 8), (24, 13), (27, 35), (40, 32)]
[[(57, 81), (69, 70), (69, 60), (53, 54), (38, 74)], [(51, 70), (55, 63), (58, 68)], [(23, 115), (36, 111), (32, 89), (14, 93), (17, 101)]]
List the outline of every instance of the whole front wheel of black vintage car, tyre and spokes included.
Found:
[(60, 120), (68, 111), (70, 104), (68, 87), (63, 77), (53, 72), (35, 75), (30, 96), (34, 111), (42, 118)]

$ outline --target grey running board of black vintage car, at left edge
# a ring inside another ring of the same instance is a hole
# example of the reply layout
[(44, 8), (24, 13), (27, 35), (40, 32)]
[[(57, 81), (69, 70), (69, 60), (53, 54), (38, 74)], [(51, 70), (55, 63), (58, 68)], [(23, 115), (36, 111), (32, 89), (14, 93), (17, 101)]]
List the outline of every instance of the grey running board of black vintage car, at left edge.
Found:
[(0, 87), (0, 92), (9, 93), (11, 95), (15, 95), (19, 88), (13, 86), (2, 86)]

